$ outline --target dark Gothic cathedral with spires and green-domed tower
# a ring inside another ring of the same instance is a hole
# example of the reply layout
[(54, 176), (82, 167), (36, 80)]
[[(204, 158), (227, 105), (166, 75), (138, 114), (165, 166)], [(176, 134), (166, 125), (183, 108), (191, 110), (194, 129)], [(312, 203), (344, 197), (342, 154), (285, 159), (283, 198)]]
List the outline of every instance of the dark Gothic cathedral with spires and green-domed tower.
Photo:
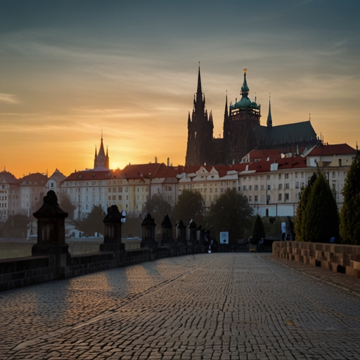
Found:
[(212, 112), (208, 115), (205, 109), (199, 68), (193, 112), (188, 114), (187, 166), (236, 164), (254, 149), (285, 148), (295, 153), (299, 147), (310, 148), (319, 143), (310, 121), (273, 126), (270, 101), (266, 126), (261, 125), (261, 107), (248, 97), (246, 73), (244, 69), (240, 100), (228, 106), (226, 95), (224, 134), (221, 139), (214, 139)]

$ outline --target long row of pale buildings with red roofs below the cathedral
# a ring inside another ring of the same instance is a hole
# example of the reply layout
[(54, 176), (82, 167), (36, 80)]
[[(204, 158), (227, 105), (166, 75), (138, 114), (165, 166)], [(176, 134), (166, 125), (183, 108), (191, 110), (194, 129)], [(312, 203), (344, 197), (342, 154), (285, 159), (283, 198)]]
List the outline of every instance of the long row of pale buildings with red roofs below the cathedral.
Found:
[(108, 153), (105, 155), (101, 140), (94, 169), (73, 172), (68, 177), (56, 169), (50, 177), (30, 174), (22, 179), (1, 172), (0, 220), (6, 221), (10, 214), (30, 216), (49, 190), (68, 195), (76, 206), (75, 219), (86, 217), (94, 205), (104, 211), (117, 205), (128, 216), (136, 217), (144, 213), (146, 201), (155, 194), (174, 206), (184, 189), (198, 191), (209, 209), (227, 188), (245, 195), (255, 214), (262, 217), (294, 216), (301, 189), (317, 169), (326, 173), (341, 207), (342, 188), (355, 154), (356, 150), (346, 143), (320, 144), (298, 148), (297, 153), (252, 150), (232, 165), (173, 167), (153, 162), (112, 170), (108, 169)]

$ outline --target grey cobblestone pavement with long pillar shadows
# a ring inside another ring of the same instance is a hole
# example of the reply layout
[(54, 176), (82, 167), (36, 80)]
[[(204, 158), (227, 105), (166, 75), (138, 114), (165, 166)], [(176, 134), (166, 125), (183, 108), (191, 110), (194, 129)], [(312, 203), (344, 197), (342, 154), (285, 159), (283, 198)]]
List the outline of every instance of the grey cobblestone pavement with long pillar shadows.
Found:
[(0, 359), (360, 359), (359, 318), (264, 255), (191, 255), (0, 293)]

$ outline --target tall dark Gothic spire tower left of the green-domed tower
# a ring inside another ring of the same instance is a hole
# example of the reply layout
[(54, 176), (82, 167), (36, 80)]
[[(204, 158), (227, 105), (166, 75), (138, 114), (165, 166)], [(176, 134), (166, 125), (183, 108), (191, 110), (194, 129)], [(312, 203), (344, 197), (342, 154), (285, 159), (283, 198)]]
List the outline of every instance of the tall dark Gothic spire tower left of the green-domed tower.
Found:
[(198, 88), (194, 96), (193, 112), (188, 113), (188, 145), (185, 165), (204, 165), (212, 153), (212, 135), (214, 123), (212, 113), (207, 116), (205, 95), (201, 88), (200, 63), (198, 70)]

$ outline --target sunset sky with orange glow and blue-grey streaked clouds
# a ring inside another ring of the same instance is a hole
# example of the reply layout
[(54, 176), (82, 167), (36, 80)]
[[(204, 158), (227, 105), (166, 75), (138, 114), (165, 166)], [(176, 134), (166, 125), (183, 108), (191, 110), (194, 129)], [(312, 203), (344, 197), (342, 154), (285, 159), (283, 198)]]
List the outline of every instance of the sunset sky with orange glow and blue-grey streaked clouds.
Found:
[(226, 91), (266, 124), (360, 140), (359, 0), (0, 0), (0, 170), (184, 165), (200, 61), (214, 137)]

